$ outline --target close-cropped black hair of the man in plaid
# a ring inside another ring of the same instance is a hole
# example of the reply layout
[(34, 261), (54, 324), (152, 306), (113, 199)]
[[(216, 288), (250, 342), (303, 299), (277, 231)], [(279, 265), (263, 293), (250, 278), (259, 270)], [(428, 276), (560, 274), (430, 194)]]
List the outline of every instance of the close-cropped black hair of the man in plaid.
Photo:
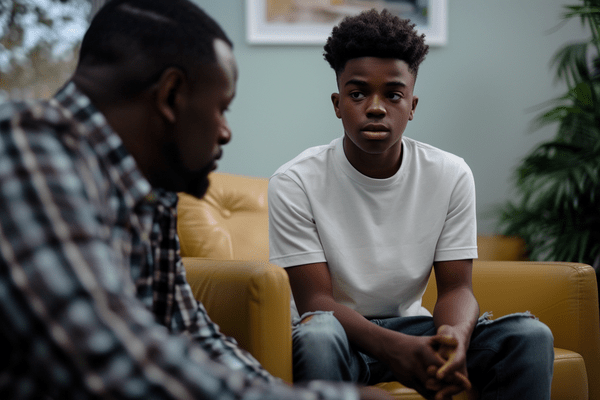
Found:
[(134, 64), (133, 71), (122, 71), (120, 93), (133, 97), (168, 67), (195, 79), (198, 66), (216, 62), (215, 39), (232, 46), (221, 27), (188, 0), (109, 0), (85, 33), (79, 67)]

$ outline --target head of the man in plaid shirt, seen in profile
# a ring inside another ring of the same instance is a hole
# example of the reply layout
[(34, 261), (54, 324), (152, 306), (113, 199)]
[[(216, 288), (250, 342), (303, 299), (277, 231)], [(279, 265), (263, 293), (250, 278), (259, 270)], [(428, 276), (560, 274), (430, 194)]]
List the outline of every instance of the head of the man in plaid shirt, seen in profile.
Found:
[(231, 132), (232, 43), (188, 0), (111, 0), (84, 36), (74, 81), (155, 187), (201, 197)]

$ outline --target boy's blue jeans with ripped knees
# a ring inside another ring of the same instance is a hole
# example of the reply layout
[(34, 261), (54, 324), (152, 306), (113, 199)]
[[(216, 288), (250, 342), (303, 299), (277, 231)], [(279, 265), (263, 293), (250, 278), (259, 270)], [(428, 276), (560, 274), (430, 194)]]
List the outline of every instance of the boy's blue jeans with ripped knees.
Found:
[[(382, 362), (350, 346), (331, 312), (308, 313), (294, 320), (294, 381), (350, 381), (364, 385), (395, 381)], [(432, 317), (394, 317), (371, 322), (413, 336), (433, 336)], [(550, 400), (554, 338), (529, 313), (491, 320), (479, 318), (467, 352), (469, 380), (481, 399)]]

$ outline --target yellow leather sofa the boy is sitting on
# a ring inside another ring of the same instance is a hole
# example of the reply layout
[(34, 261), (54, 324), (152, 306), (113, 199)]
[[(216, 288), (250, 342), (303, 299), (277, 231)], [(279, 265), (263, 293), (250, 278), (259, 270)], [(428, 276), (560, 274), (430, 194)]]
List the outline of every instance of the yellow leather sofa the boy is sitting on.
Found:
[[(224, 333), (273, 375), (291, 382), (290, 287), (285, 271), (268, 262), (268, 181), (222, 173), (211, 174), (210, 181), (204, 199), (185, 194), (179, 199), (178, 233), (188, 281)], [(479, 248), (473, 289), (481, 310), (496, 318), (525, 310), (535, 314), (554, 334), (552, 399), (600, 400), (593, 269), (506, 261), (524, 257), (517, 239), (480, 237)], [(435, 297), (432, 279), (423, 300), (430, 310)], [(397, 382), (380, 386), (399, 399), (422, 399)]]

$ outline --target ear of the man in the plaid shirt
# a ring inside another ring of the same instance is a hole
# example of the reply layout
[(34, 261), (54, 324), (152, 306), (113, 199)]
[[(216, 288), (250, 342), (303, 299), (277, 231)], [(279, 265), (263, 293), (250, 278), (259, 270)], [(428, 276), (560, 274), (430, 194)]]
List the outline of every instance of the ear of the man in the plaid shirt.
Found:
[(175, 67), (167, 68), (158, 80), (156, 106), (160, 114), (172, 124), (177, 119), (177, 108), (183, 101), (185, 83), (185, 74)]

